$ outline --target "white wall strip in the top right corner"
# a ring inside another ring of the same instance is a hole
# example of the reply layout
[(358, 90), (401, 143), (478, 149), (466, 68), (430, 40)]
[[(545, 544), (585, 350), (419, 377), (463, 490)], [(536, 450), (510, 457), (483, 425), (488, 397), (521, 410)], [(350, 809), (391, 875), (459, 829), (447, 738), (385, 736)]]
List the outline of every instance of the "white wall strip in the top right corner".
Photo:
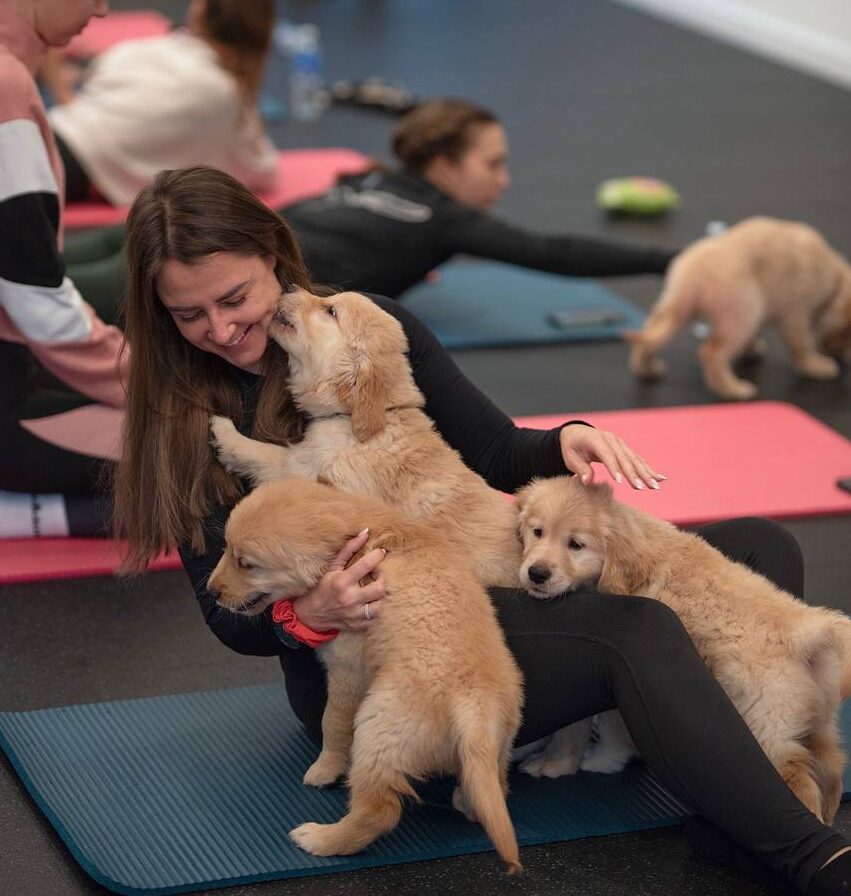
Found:
[(851, 88), (851, 0), (615, 0)]

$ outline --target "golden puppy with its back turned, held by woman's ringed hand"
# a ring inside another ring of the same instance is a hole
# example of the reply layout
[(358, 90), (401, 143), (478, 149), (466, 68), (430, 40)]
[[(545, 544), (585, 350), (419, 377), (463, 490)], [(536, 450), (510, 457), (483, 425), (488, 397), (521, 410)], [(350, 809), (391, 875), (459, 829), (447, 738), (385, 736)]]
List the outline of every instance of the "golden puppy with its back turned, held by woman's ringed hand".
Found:
[(396, 826), (402, 798), (415, 797), (410, 778), (453, 774), (455, 808), (479, 819), (508, 871), (518, 871), (505, 795), (522, 680), (457, 546), (380, 501), (280, 480), (234, 508), (210, 591), (229, 610), (260, 613), (316, 587), (340, 545), (364, 525), (363, 552), (388, 552), (379, 566), (387, 598), (364, 632), (341, 632), (318, 648), (328, 703), (322, 751), (304, 777), (321, 787), (348, 769), (349, 811), (290, 836), (314, 855), (358, 852)]

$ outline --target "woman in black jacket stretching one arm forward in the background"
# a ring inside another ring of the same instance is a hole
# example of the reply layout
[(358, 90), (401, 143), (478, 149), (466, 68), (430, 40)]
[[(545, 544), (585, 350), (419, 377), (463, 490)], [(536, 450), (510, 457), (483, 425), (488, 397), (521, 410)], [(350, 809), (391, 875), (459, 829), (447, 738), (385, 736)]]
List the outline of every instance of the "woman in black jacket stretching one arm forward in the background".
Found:
[(315, 281), (398, 298), (458, 253), (578, 277), (663, 274), (676, 254), (535, 233), (494, 217), (509, 185), (505, 131), (464, 100), (429, 100), (409, 112), (393, 155), (398, 170), (344, 177), (281, 209)]

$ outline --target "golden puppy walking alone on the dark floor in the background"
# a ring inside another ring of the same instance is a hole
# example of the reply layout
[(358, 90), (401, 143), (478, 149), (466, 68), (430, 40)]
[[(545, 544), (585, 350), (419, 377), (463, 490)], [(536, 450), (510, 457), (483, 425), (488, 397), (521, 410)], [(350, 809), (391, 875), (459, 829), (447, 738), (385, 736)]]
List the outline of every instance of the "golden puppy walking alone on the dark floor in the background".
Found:
[(732, 365), (762, 353), (767, 324), (804, 376), (834, 379), (840, 368), (830, 356), (851, 350), (851, 267), (812, 227), (794, 221), (748, 218), (698, 240), (671, 265), (644, 328), (625, 334), (630, 370), (662, 376), (659, 349), (694, 318), (710, 327), (700, 361), (707, 387), (722, 398), (756, 395)]

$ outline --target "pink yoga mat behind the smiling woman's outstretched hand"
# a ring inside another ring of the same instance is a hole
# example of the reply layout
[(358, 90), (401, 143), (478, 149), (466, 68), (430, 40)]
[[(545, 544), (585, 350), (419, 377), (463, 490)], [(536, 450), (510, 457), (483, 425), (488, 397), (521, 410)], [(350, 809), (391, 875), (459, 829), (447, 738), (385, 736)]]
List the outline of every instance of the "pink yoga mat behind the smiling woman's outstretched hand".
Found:
[[(851, 513), (851, 441), (778, 401), (518, 417), (549, 429), (580, 419), (620, 436), (668, 476), (660, 491), (615, 485), (618, 500), (680, 525), (735, 516)], [(611, 481), (597, 467), (597, 481)]]

